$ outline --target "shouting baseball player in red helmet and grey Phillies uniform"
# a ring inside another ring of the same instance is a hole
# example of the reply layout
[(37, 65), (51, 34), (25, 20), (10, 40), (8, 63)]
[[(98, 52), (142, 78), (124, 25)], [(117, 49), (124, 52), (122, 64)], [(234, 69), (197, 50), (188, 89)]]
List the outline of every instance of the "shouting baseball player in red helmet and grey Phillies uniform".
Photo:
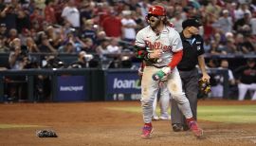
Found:
[(141, 81), (141, 106), (144, 120), (141, 137), (150, 137), (153, 132), (152, 115), (153, 102), (158, 92), (158, 83), (166, 82), (180, 111), (196, 137), (201, 137), (203, 131), (192, 117), (190, 102), (182, 91), (182, 82), (176, 65), (183, 54), (183, 46), (179, 34), (173, 27), (169, 27), (166, 9), (162, 6), (152, 6), (148, 10), (148, 27), (137, 32), (137, 58), (145, 61)]

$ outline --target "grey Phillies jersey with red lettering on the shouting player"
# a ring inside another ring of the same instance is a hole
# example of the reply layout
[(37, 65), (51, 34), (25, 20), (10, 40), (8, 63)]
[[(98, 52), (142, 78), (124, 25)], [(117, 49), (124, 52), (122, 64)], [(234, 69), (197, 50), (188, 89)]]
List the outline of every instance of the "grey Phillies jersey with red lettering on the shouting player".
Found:
[(173, 27), (168, 26), (165, 26), (159, 34), (156, 34), (150, 26), (142, 28), (137, 32), (136, 46), (146, 47), (149, 53), (154, 49), (162, 49), (162, 55), (153, 63), (159, 67), (171, 63), (173, 52), (183, 49), (179, 33)]

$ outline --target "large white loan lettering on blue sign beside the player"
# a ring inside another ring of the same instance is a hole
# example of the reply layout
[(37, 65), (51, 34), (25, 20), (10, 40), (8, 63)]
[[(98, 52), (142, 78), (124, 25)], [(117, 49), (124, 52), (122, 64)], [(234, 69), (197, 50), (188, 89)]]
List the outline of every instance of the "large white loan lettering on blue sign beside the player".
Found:
[(113, 88), (114, 89), (129, 89), (129, 88), (140, 89), (138, 82), (139, 80), (119, 80), (118, 78), (115, 78)]

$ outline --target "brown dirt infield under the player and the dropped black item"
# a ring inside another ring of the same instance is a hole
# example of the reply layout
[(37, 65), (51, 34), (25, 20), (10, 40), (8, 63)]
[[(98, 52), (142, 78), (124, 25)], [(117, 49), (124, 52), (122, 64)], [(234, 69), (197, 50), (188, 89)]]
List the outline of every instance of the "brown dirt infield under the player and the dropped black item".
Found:
[[(200, 104), (255, 104), (250, 101), (200, 100)], [(174, 133), (169, 121), (154, 121), (150, 139), (139, 137), (140, 113), (108, 107), (140, 106), (139, 101), (78, 103), (0, 104), (0, 146), (87, 146), (87, 145), (255, 145), (256, 124), (224, 124), (200, 120), (205, 137), (190, 132)], [(6, 127), (3, 127), (3, 124)], [(59, 137), (36, 137), (36, 131), (51, 129)]]

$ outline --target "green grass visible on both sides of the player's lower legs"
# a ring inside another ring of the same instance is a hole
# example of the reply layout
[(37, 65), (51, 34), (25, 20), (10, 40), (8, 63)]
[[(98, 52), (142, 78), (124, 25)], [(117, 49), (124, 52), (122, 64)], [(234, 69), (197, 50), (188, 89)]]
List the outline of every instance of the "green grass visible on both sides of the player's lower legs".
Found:
[[(140, 106), (109, 107), (110, 110), (141, 113)], [(156, 110), (159, 113), (159, 109)], [(198, 119), (225, 123), (256, 123), (256, 105), (198, 106)]]

